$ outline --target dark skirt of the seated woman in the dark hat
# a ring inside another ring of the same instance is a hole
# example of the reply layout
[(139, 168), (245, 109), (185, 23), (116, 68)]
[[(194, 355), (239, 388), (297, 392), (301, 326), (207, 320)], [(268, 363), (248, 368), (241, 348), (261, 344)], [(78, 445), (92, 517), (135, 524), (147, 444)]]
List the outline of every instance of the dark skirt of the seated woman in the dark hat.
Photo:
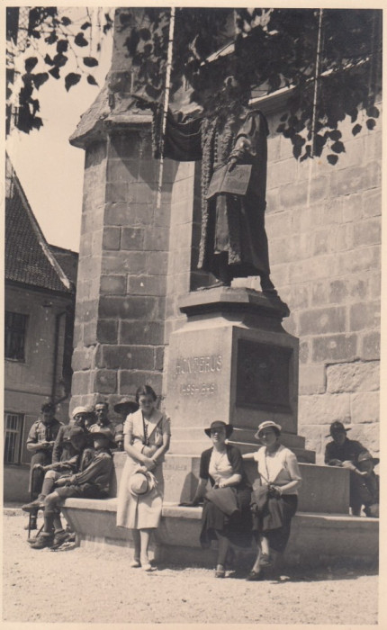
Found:
[(250, 510), (251, 489), (244, 487), (233, 489), (237, 495), (238, 512), (230, 517), (224, 514), (211, 501), (204, 499), (202, 508), (202, 531), (200, 542), (203, 549), (211, 546), (211, 540), (217, 540), (216, 532), (229, 538), (230, 543), (240, 547), (249, 547), (252, 540), (252, 518)]

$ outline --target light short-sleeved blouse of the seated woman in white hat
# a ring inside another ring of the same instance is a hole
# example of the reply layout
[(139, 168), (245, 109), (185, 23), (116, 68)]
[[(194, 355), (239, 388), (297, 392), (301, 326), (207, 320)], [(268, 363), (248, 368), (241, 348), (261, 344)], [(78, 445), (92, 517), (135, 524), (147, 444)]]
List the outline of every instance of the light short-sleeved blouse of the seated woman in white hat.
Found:
[[(270, 482), (284, 486), (289, 482), (302, 481), (296, 456), (293, 451), (283, 445), (280, 445), (275, 453), (270, 454), (266, 453), (266, 446), (262, 446), (254, 454), (254, 459), (257, 462), (258, 474), (264, 483)], [(289, 494), (297, 494), (297, 490), (293, 488)]]

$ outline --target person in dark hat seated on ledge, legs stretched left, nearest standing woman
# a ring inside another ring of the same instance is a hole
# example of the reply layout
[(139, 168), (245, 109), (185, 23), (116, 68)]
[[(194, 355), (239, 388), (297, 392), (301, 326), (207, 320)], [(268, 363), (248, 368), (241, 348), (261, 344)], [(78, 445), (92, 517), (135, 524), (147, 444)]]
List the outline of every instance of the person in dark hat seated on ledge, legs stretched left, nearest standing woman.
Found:
[(112, 453), (115, 442), (109, 428), (100, 428), (92, 434), (94, 457), (84, 471), (59, 478), (56, 488), (44, 500), (44, 527), (40, 536), (32, 543), (32, 549), (51, 547), (57, 549), (67, 542), (63, 530), (60, 508), (69, 497), (106, 499), (109, 495), (112, 476)]

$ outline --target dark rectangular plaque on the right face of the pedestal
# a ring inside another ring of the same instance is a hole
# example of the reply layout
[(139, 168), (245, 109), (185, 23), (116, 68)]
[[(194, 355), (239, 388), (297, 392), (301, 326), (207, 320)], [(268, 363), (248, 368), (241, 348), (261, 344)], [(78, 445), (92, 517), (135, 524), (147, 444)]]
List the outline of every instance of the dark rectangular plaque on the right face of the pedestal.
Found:
[(293, 350), (238, 340), (237, 405), (291, 411), (290, 362)]

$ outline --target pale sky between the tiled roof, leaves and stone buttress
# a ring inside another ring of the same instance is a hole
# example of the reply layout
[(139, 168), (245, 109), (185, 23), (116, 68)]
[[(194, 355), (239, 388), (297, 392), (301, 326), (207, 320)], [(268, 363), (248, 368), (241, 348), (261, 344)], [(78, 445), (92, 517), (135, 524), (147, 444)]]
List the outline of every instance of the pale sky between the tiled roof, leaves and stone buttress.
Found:
[[(85, 22), (85, 8), (70, 9), (66, 14)], [(79, 49), (87, 55), (87, 49)], [(26, 57), (31, 57), (27, 51)], [(55, 54), (55, 53), (53, 53)], [(72, 147), (68, 138), (87, 108), (94, 102), (103, 85), (112, 57), (112, 37), (102, 41), (99, 67), (93, 75), (99, 87), (83, 78), (68, 92), (64, 80), (49, 78), (40, 87), (40, 116), (43, 126), (30, 134), (14, 130), (6, 142), (14, 169), (30, 202), (31, 209), (49, 244), (79, 250), (85, 151)], [(19, 59), (23, 61), (23, 59)], [(67, 71), (75, 65), (67, 62)], [(23, 66), (22, 66), (23, 68)], [(35, 71), (44, 71), (44, 65)]]

